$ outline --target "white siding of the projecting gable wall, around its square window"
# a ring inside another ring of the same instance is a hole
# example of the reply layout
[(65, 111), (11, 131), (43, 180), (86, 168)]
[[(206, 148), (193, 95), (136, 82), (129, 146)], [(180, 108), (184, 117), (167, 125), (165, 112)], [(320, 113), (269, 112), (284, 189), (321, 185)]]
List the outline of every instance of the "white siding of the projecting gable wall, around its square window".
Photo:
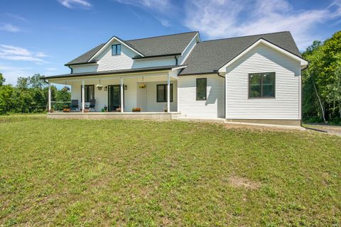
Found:
[[(249, 99), (249, 73), (276, 72), (276, 99)], [(300, 62), (260, 44), (227, 67), (226, 118), (301, 119)]]

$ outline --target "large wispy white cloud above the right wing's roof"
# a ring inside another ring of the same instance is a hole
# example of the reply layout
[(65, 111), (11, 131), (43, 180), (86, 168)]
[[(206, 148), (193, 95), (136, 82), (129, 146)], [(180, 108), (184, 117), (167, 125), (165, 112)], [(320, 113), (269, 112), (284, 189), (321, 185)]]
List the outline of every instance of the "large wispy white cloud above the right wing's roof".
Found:
[(315, 26), (341, 16), (341, 4), (296, 11), (287, 0), (197, 0), (188, 1), (185, 15), (185, 26), (210, 38), (291, 31), (303, 49), (319, 38)]

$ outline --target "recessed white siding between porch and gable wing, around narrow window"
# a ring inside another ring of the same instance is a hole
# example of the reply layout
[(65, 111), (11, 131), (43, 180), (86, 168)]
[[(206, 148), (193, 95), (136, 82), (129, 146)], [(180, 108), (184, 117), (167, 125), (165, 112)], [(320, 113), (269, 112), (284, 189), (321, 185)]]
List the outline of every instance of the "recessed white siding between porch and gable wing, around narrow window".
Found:
[[(207, 78), (207, 100), (196, 100), (197, 78)], [(179, 77), (178, 111), (190, 118), (224, 117), (224, 78), (217, 74)]]

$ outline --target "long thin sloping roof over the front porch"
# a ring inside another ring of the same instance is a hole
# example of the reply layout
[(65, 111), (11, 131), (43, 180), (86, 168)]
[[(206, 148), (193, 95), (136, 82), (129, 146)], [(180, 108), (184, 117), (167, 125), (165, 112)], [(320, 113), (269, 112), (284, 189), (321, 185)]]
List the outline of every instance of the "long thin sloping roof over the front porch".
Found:
[(155, 71), (166, 71), (173, 70), (178, 67), (185, 67), (186, 65), (167, 65), (167, 66), (158, 66), (158, 67), (143, 67), (136, 69), (126, 69), (126, 70), (107, 70), (107, 71), (99, 71), (99, 72), (79, 72), (79, 73), (70, 73), (70, 74), (59, 74), (48, 77), (41, 77), (41, 79), (54, 79), (54, 78), (72, 78), (72, 77), (88, 77), (88, 76), (98, 76), (98, 75), (107, 75), (107, 74), (125, 74), (131, 72), (155, 72)]

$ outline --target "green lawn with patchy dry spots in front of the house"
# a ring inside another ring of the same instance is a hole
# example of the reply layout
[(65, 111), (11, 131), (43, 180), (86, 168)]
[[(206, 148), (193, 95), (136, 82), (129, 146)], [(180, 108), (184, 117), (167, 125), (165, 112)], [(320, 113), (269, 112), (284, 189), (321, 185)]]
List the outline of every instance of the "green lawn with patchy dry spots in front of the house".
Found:
[(340, 226), (340, 192), (336, 135), (0, 117), (0, 226)]

